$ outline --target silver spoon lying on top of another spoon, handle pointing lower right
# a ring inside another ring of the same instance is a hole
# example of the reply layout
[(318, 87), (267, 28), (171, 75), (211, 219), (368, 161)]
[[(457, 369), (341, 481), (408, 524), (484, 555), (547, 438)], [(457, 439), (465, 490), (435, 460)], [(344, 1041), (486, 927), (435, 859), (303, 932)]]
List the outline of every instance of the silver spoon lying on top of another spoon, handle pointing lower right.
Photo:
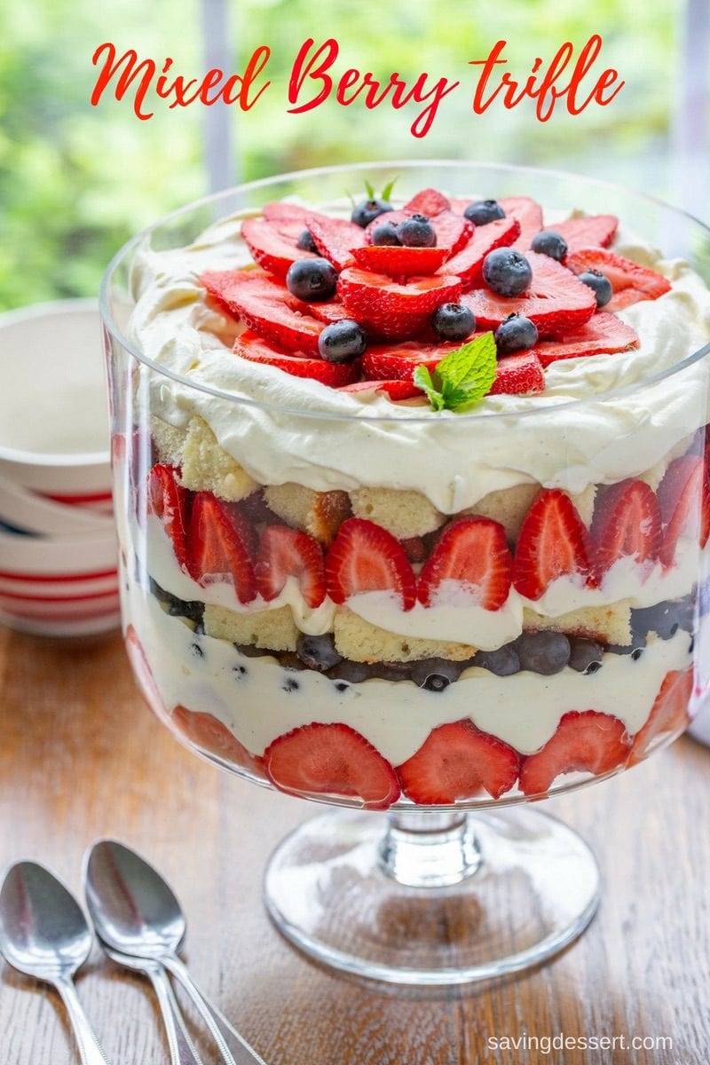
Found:
[(86, 855), (84, 890), (101, 939), (121, 954), (165, 966), (192, 998), (227, 1065), (265, 1065), (178, 957), (185, 917), (169, 885), (145, 858), (115, 839), (100, 839)]

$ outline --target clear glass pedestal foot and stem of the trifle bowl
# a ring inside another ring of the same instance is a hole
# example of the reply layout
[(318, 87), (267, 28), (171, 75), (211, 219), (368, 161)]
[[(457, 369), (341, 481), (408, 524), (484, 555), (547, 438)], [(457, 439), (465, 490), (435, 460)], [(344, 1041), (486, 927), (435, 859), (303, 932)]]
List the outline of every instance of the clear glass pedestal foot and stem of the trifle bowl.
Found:
[(599, 870), (577, 833), (539, 810), (337, 809), (280, 843), (264, 894), (279, 930), (317, 961), (441, 986), (557, 953), (594, 916)]

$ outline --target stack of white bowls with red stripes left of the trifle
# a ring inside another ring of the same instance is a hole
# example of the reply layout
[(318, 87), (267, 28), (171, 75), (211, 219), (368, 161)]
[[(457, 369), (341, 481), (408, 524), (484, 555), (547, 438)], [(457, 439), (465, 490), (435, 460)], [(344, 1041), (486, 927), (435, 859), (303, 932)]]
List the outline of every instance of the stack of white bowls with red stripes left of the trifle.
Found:
[(0, 622), (45, 636), (119, 624), (96, 300), (0, 315)]

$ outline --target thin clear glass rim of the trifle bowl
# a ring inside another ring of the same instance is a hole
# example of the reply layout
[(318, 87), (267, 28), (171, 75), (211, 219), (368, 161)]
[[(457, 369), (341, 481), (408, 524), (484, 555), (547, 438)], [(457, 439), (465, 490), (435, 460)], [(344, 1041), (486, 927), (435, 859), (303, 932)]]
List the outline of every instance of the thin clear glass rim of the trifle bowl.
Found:
[[(129, 255), (134, 252), (141, 244), (143, 244), (146, 239), (160, 227), (165, 226), (168, 223), (175, 222), (182, 215), (186, 215), (189, 212), (200, 210), (210, 204), (219, 202), (220, 200), (227, 200), (230, 196), (234, 196), (244, 192), (251, 192), (259, 189), (268, 189), (270, 185), (279, 184), (284, 181), (293, 180), (303, 180), (313, 179), (324, 175), (333, 174), (344, 174), (346, 171), (366, 171), (366, 170), (383, 170), (383, 169), (407, 169), (413, 170), (416, 168), (429, 168), (429, 167), (441, 167), (448, 169), (457, 169), (461, 167), (477, 168), (481, 171), (485, 170), (503, 170), (510, 174), (530, 174), (536, 177), (548, 177), (555, 178), (556, 180), (574, 180), (583, 181), (587, 184), (595, 185), (600, 190), (607, 189), (615, 193), (624, 193), (627, 196), (634, 197), (637, 199), (643, 200), (646, 203), (654, 206), (655, 208), (660, 208), (663, 211), (671, 212), (677, 216), (681, 216), (687, 220), (691, 222), (694, 226), (699, 227), (705, 231), (707, 236), (710, 239), (710, 226), (706, 225), (695, 215), (691, 214), (689, 211), (681, 210), (680, 208), (675, 208), (670, 203), (656, 196), (650, 196), (647, 193), (640, 193), (635, 190), (629, 189), (625, 185), (617, 184), (616, 182), (605, 181), (599, 178), (590, 178), (585, 175), (575, 174), (571, 170), (560, 170), (560, 169), (549, 169), (544, 167), (535, 166), (522, 166), (512, 163), (493, 163), (493, 162), (477, 162), (469, 160), (453, 160), (453, 159), (409, 159), (409, 160), (373, 160), (369, 162), (361, 163), (342, 163), (335, 166), (318, 166), (310, 167), (302, 170), (290, 170), (286, 174), (271, 175), (267, 178), (259, 178), (254, 181), (246, 181), (241, 184), (233, 185), (230, 189), (222, 189), (219, 192), (211, 193), (208, 196), (202, 196), (197, 200), (193, 200), (189, 203), (183, 204), (183, 207), (177, 208), (169, 214), (163, 215), (156, 222), (147, 226), (141, 232), (136, 233), (130, 240), (128, 240), (115, 253), (111, 262), (106, 266), (106, 269), (101, 279), (101, 285), (99, 290), (99, 310), (102, 318), (104, 329), (114, 338), (133, 358), (137, 359), (143, 365), (149, 367), (160, 377), (168, 378), (175, 381), (177, 384), (181, 384), (191, 391), (200, 392), (204, 395), (212, 396), (217, 399), (226, 399), (229, 403), (233, 403), (240, 406), (253, 407), (259, 410), (271, 410), (278, 411), (279, 413), (294, 414), (301, 417), (312, 417), (316, 420), (329, 421), (329, 422), (373, 422), (377, 424), (401, 424), (401, 423), (431, 423), (432, 416), (439, 416), (441, 419), (442, 414), (448, 415), (446, 422), (450, 421), (450, 417), (456, 417), (458, 422), (469, 422), (472, 420), (480, 419), (525, 419), (526, 421), (534, 417), (543, 417), (551, 412), (572, 410), (574, 408), (581, 408), (592, 404), (606, 403), (609, 399), (622, 398), (627, 395), (631, 395), (635, 392), (641, 391), (647, 387), (659, 383), (666, 378), (673, 377), (675, 374), (687, 370), (689, 366), (694, 365), (694, 363), (699, 362), (706, 356), (710, 355), (710, 341), (704, 344), (696, 351), (692, 351), (684, 359), (679, 362), (674, 363), (665, 370), (659, 371), (656, 374), (650, 374), (647, 377), (643, 377), (638, 381), (632, 381), (630, 384), (624, 384), (616, 389), (609, 389), (606, 392), (595, 393), (590, 396), (581, 396), (580, 398), (569, 399), (564, 403), (542, 403), (536, 404), (529, 410), (523, 411), (493, 411), (490, 413), (482, 413), (481, 411), (472, 411), (469, 413), (452, 413), (452, 412), (442, 412), (433, 410), (425, 410), (422, 415), (402, 413), (387, 413), (387, 414), (368, 414), (366, 408), (362, 411), (353, 411), (352, 413), (341, 413), (341, 412), (330, 412), (317, 409), (310, 409), (307, 405), (302, 406), (288, 406), (277, 403), (268, 403), (261, 399), (252, 399), (248, 396), (242, 396), (234, 392), (228, 392), (224, 389), (216, 388), (214, 386), (205, 384), (202, 382), (189, 380), (183, 377), (181, 374), (175, 371), (168, 370), (166, 366), (161, 365), (154, 360), (150, 359), (145, 353), (141, 351), (136, 345), (134, 345), (120, 330), (114, 316), (111, 312), (110, 301), (109, 301), (109, 290), (111, 285), (111, 279), (114, 271), (128, 258)], [(408, 411), (415, 410), (416, 408), (408, 407)]]

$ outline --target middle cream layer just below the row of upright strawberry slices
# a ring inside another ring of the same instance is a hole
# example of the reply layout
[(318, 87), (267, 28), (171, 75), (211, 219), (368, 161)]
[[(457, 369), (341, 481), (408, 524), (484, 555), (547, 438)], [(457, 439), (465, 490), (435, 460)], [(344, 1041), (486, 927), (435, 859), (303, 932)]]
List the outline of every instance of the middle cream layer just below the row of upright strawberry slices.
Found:
[[(258, 597), (246, 604), (240, 603), (229, 581), (197, 584), (178, 564), (170, 539), (160, 519), (153, 515), (147, 518), (145, 537), (134, 529), (134, 543), (143, 569), (161, 588), (178, 599), (211, 603), (240, 613), (290, 606), (294, 623), (301, 633), (318, 636), (333, 628), (335, 604), (326, 597), (319, 607), (309, 607), (294, 577), (288, 578), (277, 599), (266, 602)], [(404, 611), (397, 596), (385, 591), (352, 595), (346, 605), (365, 621), (399, 636), (449, 640), (494, 651), (521, 635), (526, 606), (536, 613), (559, 618), (572, 610), (621, 601), (628, 601), (632, 607), (646, 607), (680, 599), (699, 578), (700, 554), (696, 543), (680, 539), (676, 563), (668, 570), (663, 570), (660, 563), (639, 564), (632, 558), (622, 558), (609, 570), (600, 588), (580, 587), (569, 577), (559, 577), (534, 601), (511, 588), (498, 610), (484, 610), (466, 602), (465, 591), (455, 581), (444, 581), (445, 586), (453, 586), (450, 594), (447, 595), (444, 587), (441, 602), (429, 607), (417, 603), (412, 610)]]

